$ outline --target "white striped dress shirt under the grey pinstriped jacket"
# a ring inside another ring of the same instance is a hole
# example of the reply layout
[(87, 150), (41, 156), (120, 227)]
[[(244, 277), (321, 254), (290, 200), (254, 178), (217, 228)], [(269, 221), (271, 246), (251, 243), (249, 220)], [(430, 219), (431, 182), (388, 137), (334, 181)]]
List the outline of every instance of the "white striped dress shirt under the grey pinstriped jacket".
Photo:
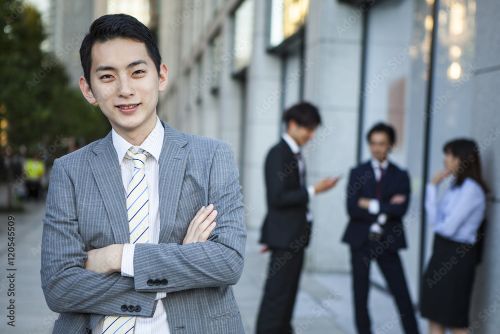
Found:
[[(125, 158), (125, 153), (133, 146), (114, 129), (111, 130), (113, 146), (120, 162), (121, 180), (123, 182), (123, 194), (126, 197), (128, 183), (132, 178), (133, 162)], [(147, 184), (147, 195), (149, 199), (149, 243), (158, 243), (159, 238), (159, 196), (158, 196), (158, 160), (163, 146), (165, 130), (156, 116), (156, 125), (147, 138), (138, 147), (151, 155), (147, 157), (144, 166), (144, 175)], [(135, 244), (126, 243), (123, 245), (123, 255), (121, 258), (121, 275), (133, 277), (133, 253)], [(166, 292), (156, 292), (156, 299), (166, 296)], [(94, 333), (102, 333), (102, 317), (93, 328)], [(152, 317), (137, 316), (135, 318), (134, 334), (169, 334), (168, 321), (163, 303), (159, 300)]]

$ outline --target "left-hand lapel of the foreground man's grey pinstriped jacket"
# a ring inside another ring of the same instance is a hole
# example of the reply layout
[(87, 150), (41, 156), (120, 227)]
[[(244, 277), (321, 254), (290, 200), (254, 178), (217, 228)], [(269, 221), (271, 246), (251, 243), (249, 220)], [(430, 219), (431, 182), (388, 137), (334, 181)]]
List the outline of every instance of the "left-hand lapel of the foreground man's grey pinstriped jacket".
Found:
[(96, 156), (88, 164), (104, 202), (114, 240), (120, 244), (129, 243), (125, 195), (111, 132), (94, 147), (93, 152)]

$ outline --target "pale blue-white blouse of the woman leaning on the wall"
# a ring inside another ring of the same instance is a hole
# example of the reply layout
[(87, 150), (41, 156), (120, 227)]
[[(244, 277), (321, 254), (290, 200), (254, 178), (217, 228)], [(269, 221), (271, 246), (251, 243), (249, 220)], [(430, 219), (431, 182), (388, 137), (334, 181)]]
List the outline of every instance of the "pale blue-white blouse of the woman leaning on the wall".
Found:
[(453, 181), (441, 202), (437, 202), (437, 186), (428, 183), (425, 193), (427, 222), (446, 239), (472, 244), (481, 225), (486, 198), (481, 186), (467, 177), (461, 186)]

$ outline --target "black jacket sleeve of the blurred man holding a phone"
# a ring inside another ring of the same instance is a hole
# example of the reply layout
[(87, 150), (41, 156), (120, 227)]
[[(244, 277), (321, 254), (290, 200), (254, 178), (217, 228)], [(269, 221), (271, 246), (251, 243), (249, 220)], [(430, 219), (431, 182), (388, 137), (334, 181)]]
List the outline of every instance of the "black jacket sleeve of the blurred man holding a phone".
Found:
[[(296, 167), (298, 168), (298, 166)], [(287, 178), (294, 170), (277, 150), (271, 150), (265, 160), (265, 184), (269, 207), (285, 209), (297, 205), (306, 205), (309, 195), (305, 187), (286, 189)]]

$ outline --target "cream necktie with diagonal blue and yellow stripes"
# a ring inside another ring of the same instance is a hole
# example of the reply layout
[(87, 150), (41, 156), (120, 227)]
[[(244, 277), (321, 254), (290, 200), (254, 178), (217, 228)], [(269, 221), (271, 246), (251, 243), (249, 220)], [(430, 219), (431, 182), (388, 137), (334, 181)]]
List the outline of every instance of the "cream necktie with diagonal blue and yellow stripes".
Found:
[[(130, 243), (147, 243), (149, 241), (149, 199), (147, 196), (144, 166), (149, 153), (142, 151), (132, 153), (128, 150), (125, 158), (133, 162), (133, 172), (126, 196), (128, 230)], [(104, 318), (102, 334), (131, 334), (135, 324), (135, 316), (108, 315)]]

